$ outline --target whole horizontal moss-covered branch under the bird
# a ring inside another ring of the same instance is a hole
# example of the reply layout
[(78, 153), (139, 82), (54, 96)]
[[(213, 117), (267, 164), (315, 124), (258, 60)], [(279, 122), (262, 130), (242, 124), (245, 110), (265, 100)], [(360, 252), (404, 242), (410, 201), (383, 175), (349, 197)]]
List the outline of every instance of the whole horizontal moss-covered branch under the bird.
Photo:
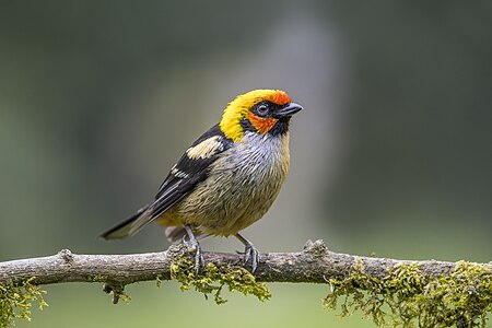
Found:
[(330, 251), (321, 241), (307, 242), (298, 253), (262, 254), (255, 274), (243, 268), (241, 255), (203, 253), (203, 258), (206, 267), (198, 277), (192, 255), (181, 245), (133, 255), (77, 255), (63, 249), (54, 256), (0, 262), (0, 286), (4, 286), (0, 303), (10, 295), (5, 286), (34, 291), (35, 296), (26, 294), (43, 303), (37, 285), (61, 282), (105, 283), (104, 290), (117, 303), (128, 298), (127, 284), (174, 279), (181, 290), (195, 288), (212, 294), (216, 303), (225, 302), (223, 286), (265, 301), (270, 293), (263, 282), (329, 284), (327, 308), (341, 303), (341, 315), (361, 309), (377, 325), (390, 317), (394, 326), (401, 327), (412, 327), (414, 321), (419, 327), (485, 327), (492, 309), (491, 263), (353, 256)]

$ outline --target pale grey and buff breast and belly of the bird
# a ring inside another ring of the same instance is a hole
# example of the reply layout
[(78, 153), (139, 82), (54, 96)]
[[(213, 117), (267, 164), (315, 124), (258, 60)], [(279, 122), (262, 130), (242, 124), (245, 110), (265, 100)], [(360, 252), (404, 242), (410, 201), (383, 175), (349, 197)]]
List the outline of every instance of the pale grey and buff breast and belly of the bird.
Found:
[(244, 142), (226, 152), (197, 186), (196, 197), (179, 207), (195, 221), (190, 224), (214, 235), (235, 234), (268, 211), (289, 171), (289, 134), (246, 132)]

